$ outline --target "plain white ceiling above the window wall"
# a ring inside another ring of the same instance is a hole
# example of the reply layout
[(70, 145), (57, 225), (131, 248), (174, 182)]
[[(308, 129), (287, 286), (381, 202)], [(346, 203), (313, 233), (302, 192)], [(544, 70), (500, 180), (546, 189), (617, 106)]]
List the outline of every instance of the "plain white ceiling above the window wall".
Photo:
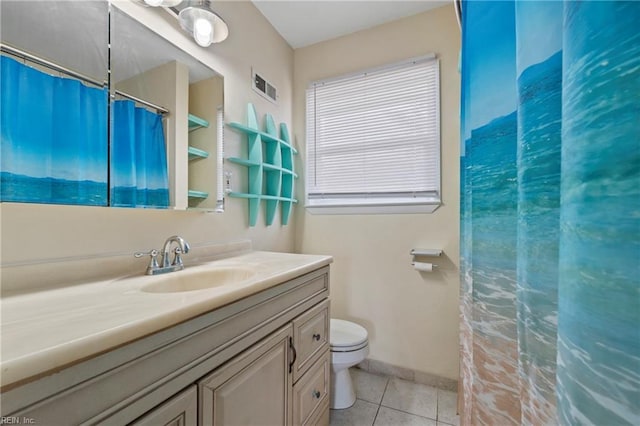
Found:
[(252, 0), (291, 47), (415, 15), (452, 2), (436, 0)]

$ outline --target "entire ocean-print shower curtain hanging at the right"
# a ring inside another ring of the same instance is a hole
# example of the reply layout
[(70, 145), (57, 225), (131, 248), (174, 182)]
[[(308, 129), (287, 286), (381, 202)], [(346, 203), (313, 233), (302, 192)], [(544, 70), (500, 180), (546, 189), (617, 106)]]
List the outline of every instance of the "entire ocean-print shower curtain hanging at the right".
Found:
[(462, 4), (462, 424), (640, 424), (638, 22)]

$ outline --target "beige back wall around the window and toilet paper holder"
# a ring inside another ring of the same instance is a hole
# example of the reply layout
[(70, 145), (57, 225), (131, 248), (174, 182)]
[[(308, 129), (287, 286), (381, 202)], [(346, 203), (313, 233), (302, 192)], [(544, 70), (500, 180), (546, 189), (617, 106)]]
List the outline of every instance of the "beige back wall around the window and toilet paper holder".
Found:
[[(444, 205), (433, 214), (398, 215), (299, 208), (296, 250), (335, 257), (332, 316), (366, 326), (369, 358), (451, 379), (458, 378), (459, 48), (454, 9), (445, 6), (294, 54), (293, 128), (301, 148), (310, 81), (430, 52), (440, 58)], [(445, 257), (434, 261), (440, 268), (413, 270), (412, 248), (443, 249)]]

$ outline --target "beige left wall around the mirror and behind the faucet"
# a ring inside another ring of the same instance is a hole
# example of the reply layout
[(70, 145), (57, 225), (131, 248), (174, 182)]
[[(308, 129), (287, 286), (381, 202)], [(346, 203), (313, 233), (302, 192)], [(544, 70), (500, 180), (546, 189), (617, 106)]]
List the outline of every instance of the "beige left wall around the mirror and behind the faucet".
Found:
[[(252, 102), (261, 116), (270, 113), (276, 123), (290, 125), (293, 50), (251, 2), (218, 2), (215, 8), (229, 25), (230, 35), (205, 50), (179, 29), (175, 19), (159, 19), (157, 9), (133, 2), (123, 5), (125, 12), (154, 25), (174, 44), (199, 55), (202, 62), (224, 75), (227, 122), (245, 122), (246, 104)], [(252, 66), (278, 88), (278, 105), (251, 89)], [(225, 138), (226, 155), (240, 155), (242, 137), (226, 129)], [(233, 169), (234, 184), (240, 187), (246, 169), (225, 167)], [(266, 227), (261, 214), (257, 226), (249, 228), (247, 201), (241, 199), (227, 199), (223, 214), (12, 203), (0, 204), (0, 214), (3, 264), (133, 253), (160, 248), (172, 234), (182, 235), (192, 244), (251, 239), (257, 249), (292, 251), (294, 247), (295, 219), (288, 226), (275, 222)]]

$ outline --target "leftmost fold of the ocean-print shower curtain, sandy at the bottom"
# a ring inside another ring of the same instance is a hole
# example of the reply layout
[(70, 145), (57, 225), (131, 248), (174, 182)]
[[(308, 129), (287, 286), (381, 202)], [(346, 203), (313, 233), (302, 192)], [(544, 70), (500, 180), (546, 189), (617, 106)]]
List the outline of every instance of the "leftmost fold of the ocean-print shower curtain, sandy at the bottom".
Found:
[(462, 421), (516, 424), (521, 414), (515, 11), (512, 2), (469, 2), (463, 12), (462, 312), (464, 339), (472, 342), (462, 344), (468, 351), (462, 355)]

